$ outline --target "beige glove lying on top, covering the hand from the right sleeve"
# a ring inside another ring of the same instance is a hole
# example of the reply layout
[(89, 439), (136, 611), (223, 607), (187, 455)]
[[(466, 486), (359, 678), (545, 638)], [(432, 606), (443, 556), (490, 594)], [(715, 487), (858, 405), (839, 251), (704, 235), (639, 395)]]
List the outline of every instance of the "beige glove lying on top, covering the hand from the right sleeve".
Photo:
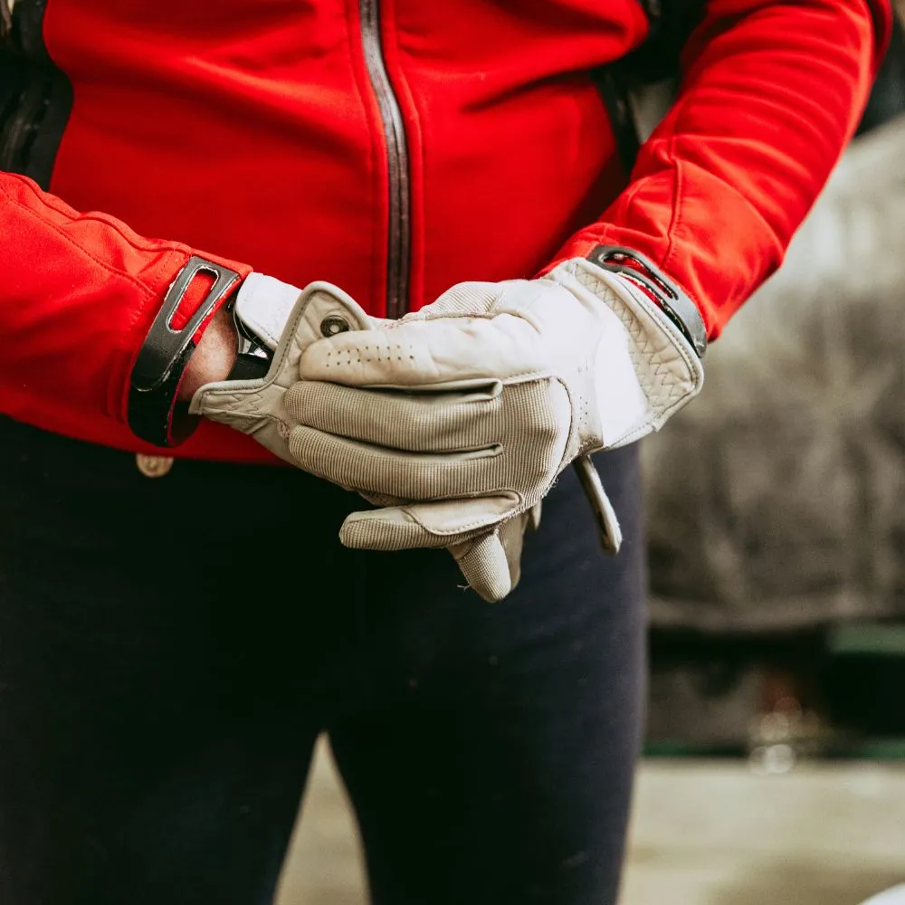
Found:
[(540, 280), (462, 283), (381, 329), (320, 339), (300, 377), (283, 400), (292, 459), (369, 499), (407, 501), (350, 515), (343, 543), (451, 548), (469, 584), (499, 599), (510, 523), (569, 462), (659, 429), (703, 370), (631, 276), (576, 259)]

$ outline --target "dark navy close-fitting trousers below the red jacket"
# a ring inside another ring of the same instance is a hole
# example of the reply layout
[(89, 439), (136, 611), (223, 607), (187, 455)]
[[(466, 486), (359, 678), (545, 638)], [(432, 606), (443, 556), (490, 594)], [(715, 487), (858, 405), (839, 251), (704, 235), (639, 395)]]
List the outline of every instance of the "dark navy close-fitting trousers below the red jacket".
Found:
[(571, 470), (499, 605), (356, 496), (0, 423), (0, 903), (268, 905), (329, 733), (376, 905), (607, 905), (643, 696), (637, 454)]

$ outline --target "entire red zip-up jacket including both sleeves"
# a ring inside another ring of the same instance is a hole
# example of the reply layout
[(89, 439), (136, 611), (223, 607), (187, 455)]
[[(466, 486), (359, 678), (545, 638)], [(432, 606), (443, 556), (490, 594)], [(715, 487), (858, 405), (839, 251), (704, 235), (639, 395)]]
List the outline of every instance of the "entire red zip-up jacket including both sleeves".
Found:
[[(40, 8), (14, 6), (38, 23), (20, 52), (43, 39), (73, 102), (52, 194), (0, 173), (0, 411), (146, 452), (129, 371), (193, 253), (382, 315), (624, 245), (715, 335), (853, 134), (891, 15), (709, 0), (626, 186), (588, 71), (643, 41), (639, 0), (49, 0), (43, 26)], [(175, 454), (268, 457), (216, 424)]]

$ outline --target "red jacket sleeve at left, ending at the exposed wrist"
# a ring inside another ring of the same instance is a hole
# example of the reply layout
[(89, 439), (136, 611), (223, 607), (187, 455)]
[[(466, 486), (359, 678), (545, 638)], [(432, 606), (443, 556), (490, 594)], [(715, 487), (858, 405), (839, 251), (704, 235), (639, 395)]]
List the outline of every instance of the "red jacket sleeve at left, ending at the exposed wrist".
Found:
[(78, 214), (30, 179), (6, 173), (0, 235), (0, 413), (111, 444), (134, 442), (126, 425), (129, 373), (188, 258), (200, 254), (243, 278), (250, 271), (141, 238), (105, 214)]

